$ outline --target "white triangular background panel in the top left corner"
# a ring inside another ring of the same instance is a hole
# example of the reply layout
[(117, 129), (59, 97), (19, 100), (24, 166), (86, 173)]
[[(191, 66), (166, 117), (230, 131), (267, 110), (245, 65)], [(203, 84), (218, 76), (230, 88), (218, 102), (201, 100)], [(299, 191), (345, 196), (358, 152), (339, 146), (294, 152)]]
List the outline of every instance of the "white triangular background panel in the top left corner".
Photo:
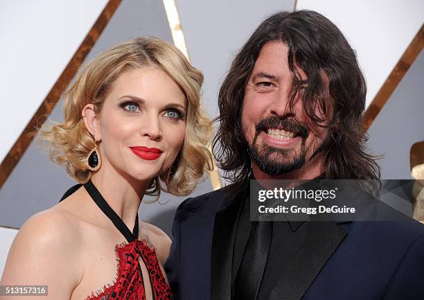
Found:
[(0, 161), (58, 80), (107, 2), (0, 1)]

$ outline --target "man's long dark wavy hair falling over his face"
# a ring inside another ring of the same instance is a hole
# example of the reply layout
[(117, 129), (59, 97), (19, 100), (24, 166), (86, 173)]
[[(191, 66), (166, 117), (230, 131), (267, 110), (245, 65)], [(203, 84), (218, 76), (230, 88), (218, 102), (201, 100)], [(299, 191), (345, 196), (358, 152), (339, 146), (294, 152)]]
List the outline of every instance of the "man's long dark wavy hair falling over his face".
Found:
[[(247, 81), (267, 42), (288, 45), (293, 77), (290, 109), (301, 93), (303, 109), (312, 121), (326, 121), (315, 114), (316, 105), (325, 116), (332, 116), (328, 125), (330, 140), (324, 149), (326, 179), (378, 181), (376, 157), (365, 151), (367, 137), (362, 118), (366, 83), (355, 52), (335, 24), (310, 10), (277, 12), (265, 19), (231, 64), (218, 96), (220, 116), (215, 122), (219, 122), (219, 128), (213, 140), (215, 159), (224, 177), (236, 188), (245, 184), (251, 173), (249, 147), (242, 131), (242, 104)], [(297, 67), (306, 73), (306, 87), (302, 87)], [(328, 89), (321, 71), (328, 77)]]

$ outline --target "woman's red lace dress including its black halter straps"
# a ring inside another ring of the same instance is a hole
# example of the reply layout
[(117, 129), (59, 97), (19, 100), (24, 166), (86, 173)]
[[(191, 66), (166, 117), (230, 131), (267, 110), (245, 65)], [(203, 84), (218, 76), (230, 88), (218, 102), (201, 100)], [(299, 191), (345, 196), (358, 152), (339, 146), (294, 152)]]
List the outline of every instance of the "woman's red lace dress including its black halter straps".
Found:
[[(62, 200), (75, 192), (79, 186), (74, 186), (65, 193)], [(116, 245), (115, 252), (118, 260), (116, 280), (112, 285), (105, 285), (103, 290), (91, 295), (85, 300), (145, 300), (145, 284), (150, 285), (153, 300), (172, 300), (168, 283), (159, 267), (154, 247), (146, 240), (139, 240), (139, 217), (137, 215), (133, 231), (130, 231), (123, 220), (107, 204), (105, 198), (89, 180), (84, 184), (85, 189), (96, 202), (97, 206), (114, 223), (127, 242)], [(62, 201), (61, 200), (61, 201)], [(148, 278), (143, 278), (139, 258), (148, 270)]]

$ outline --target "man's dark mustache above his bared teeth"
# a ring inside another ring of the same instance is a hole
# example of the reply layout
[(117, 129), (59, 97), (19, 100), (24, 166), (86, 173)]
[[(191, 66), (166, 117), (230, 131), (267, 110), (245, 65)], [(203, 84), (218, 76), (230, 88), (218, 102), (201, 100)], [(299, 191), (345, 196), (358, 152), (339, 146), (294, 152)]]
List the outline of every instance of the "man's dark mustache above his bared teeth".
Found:
[(256, 134), (260, 134), (268, 128), (279, 128), (281, 130), (293, 132), (295, 136), (306, 138), (309, 134), (308, 128), (296, 121), (293, 117), (277, 118), (276, 116), (269, 116), (263, 118), (256, 125)]

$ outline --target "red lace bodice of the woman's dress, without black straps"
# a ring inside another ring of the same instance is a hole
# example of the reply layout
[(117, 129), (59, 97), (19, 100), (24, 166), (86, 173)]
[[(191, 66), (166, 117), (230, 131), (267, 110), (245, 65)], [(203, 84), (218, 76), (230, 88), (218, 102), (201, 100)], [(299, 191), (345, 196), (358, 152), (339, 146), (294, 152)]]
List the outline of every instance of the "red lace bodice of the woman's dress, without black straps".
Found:
[[(118, 261), (118, 274), (113, 285), (103, 291), (91, 292), (85, 300), (145, 300), (143, 276), (139, 265), (139, 257), (150, 274), (150, 283), (155, 300), (172, 300), (172, 293), (159, 267), (154, 247), (146, 240), (134, 240), (115, 247)], [(146, 280), (147, 284), (150, 284)]]

